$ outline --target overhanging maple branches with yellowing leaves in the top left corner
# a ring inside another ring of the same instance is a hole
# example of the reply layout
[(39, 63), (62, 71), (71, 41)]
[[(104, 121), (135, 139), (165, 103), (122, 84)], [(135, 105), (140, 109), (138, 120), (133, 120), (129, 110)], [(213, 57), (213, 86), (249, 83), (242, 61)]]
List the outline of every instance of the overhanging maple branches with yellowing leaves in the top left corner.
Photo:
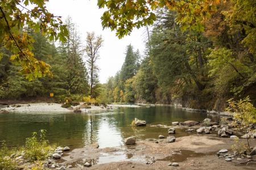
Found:
[[(47, 11), (48, 0), (3, 0), (0, 2), (0, 46), (13, 53), (9, 56), (11, 62), (22, 68), (28, 80), (36, 77), (52, 75), (50, 66), (34, 57), (32, 44), (34, 39), (28, 35), (25, 27), (35, 32), (47, 35), (49, 40), (65, 41), (68, 31), (61, 22), (60, 16)], [(28, 5), (32, 6), (28, 9)], [(3, 53), (0, 53), (0, 59)]]

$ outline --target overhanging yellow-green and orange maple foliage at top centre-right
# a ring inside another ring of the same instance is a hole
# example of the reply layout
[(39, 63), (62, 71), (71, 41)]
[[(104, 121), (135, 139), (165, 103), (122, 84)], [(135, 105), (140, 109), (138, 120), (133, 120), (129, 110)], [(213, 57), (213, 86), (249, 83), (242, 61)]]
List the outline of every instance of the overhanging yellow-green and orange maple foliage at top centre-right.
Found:
[(98, 0), (98, 7), (107, 8), (101, 17), (102, 26), (116, 31), (116, 35), (122, 38), (130, 35), (134, 27), (140, 28), (151, 25), (156, 20), (156, 8), (167, 7), (177, 11), (177, 22), (184, 28), (192, 28), (202, 31), (203, 20), (216, 11), (216, 5), (220, 0)]

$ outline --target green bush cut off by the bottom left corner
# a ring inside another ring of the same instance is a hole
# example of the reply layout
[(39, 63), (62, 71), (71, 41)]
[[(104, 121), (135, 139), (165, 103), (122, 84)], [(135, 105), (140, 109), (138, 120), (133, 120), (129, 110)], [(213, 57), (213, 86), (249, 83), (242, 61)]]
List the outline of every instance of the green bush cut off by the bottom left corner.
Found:
[(5, 141), (0, 145), (0, 169), (15, 169), (16, 162), (11, 159), (12, 151), (8, 150)]

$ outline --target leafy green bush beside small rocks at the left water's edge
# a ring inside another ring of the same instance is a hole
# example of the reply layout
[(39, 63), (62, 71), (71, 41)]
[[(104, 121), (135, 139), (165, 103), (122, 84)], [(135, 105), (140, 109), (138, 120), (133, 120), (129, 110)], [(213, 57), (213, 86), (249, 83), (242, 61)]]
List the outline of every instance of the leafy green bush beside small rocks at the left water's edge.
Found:
[(32, 133), (32, 137), (26, 139), (24, 146), (24, 157), (30, 161), (44, 160), (47, 158), (48, 153), (53, 151), (53, 147), (49, 146), (48, 141), (45, 139), (46, 130), (40, 130), (40, 138), (38, 139), (37, 133)]

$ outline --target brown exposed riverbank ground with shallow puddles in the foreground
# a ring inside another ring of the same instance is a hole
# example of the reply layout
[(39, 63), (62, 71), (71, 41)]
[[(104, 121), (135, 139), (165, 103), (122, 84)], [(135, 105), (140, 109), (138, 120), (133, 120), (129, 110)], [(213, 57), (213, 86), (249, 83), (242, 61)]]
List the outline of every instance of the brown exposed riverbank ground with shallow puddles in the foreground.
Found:
[[(252, 145), (255, 144), (253, 140)], [(233, 154), (232, 145), (232, 139), (202, 135), (176, 138), (174, 143), (138, 141), (134, 146), (108, 148), (90, 145), (69, 152), (59, 164), (76, 167), (71, 169), (256, 169), (256, 162), (237, 165), (240, 162), (236, 158), (232, 162), (218, 158), (216, 152), (222, 148)], [(84, 167), (85, 162), (92, 167)], [(168, 166), (173, 162), (179, 167)]]

